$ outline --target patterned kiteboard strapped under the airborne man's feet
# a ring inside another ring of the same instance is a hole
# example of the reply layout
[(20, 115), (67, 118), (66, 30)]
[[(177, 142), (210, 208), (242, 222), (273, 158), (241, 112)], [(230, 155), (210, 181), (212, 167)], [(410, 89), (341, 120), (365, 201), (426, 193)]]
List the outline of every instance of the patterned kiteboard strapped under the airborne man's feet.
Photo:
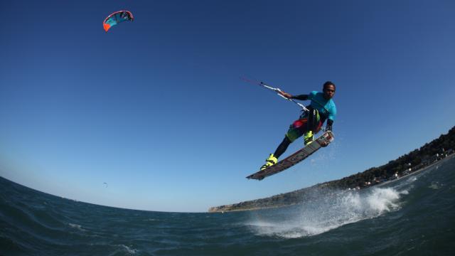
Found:
[(277, 164), (269, 166), (266, 169), (258, 171), (255, 174), (251, 174), (250, 176), (247, 176), (247, 178), (257, 179), (260, 181), (262, 180), (262, 178), (271, 176), (273, 174), (277, 174), (280, 171), (284, 171), (289, 167), (294, 166), (294, 164), (297, 164), (300, 161), (306, 159), (308, 156), (318, 151), (318, 149), (321, 149), (322, 147), (321, 145), (330, 144), (331, 142), (333, 142), (333, 139), (334, 137), (332, 132), (330, 131), (324, 132), (321, 135), (321, 137), (315, 139), (310, 144), (307, 144), (303, 149), (299, 149), (294, 154), (291, 154), (282, 161), (279, 161)]

